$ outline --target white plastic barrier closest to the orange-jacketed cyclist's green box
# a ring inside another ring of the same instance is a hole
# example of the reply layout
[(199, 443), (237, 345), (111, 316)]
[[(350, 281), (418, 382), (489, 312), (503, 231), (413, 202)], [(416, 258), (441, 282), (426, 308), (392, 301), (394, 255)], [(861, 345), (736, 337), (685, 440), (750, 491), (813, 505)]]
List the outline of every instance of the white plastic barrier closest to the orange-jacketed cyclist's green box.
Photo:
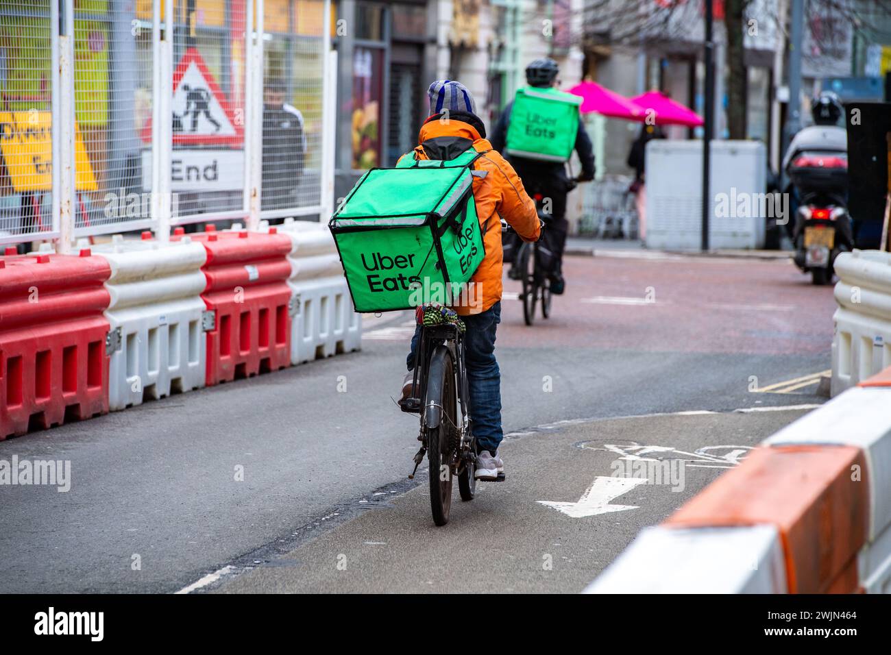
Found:
[(362, 316), (353, 308), (328, 226), (289, 218), (277, 228), (293, 243), (288, 256), (293, 293), (290, 363), (362, 348)]

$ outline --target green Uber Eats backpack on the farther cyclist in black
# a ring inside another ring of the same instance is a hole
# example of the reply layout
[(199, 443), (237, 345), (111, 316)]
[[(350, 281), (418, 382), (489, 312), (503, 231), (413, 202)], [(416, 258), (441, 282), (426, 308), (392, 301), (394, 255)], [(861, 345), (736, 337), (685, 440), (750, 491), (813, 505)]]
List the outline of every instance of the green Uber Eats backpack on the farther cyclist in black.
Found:
[(507, 128), (508, 155), (527, 160), (568, 161), (576, 146), (582, 98), (552, 88), (520, 88)]

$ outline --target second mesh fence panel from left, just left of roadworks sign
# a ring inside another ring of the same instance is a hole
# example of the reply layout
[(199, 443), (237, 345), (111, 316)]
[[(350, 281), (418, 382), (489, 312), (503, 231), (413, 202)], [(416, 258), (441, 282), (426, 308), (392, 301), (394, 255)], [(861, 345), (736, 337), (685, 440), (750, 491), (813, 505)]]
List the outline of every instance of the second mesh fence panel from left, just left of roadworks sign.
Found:
[(75, 0), (75, 233), (151, 220), (151, 0)]

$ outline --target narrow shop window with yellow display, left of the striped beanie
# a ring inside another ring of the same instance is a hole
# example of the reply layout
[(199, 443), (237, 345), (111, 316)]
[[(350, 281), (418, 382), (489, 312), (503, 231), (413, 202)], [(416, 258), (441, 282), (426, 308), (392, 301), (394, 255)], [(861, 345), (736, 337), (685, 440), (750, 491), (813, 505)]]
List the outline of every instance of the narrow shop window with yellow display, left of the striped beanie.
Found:
[(353, 53), (353, 168), (380, 162), (380, 100), (383, 50), (357, 47)]

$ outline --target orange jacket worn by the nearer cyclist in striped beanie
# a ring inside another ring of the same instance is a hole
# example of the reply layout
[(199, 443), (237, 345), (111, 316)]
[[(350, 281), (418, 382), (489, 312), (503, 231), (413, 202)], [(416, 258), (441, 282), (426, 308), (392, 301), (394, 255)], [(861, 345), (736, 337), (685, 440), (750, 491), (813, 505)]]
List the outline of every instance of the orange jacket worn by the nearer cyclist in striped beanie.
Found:
[[(460, 315), (478, 314), (495, 305), (502, 297), (503, 251), (499, 215), (513, 227), (520, 239), (534, 242), (541, 233), (538, 212), (535, 201), (529, 198), (517, 172), (498, 152), (492, 150), (491, 143), (480, 137), (476, 127), (454, 118), (440, 120), (430, 117), (421, 127), (418, 142), (423, 144), (440, 136), (470, 139), (476, 151), (487, 151), (473, 165), (474, 171), (485, 172), (485, 175), (473, 176), (473, 199), (477, 204), (486, 258), (470, 279), (473, 286), (468, 285), (467, 298), (459, 299), (458, 306), (454, 307)], [(415, 159), (429, 159), (422, 145), (413, 152)]]

